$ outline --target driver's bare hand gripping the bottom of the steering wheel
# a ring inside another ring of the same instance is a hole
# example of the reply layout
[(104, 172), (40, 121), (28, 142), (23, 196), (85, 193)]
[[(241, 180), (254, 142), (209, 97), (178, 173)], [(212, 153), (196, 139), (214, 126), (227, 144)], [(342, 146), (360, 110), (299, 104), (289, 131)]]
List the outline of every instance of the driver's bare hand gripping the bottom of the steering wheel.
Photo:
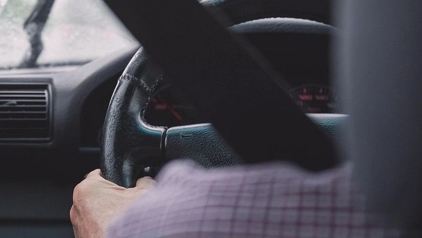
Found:
[(145, 177), (136, 181), (135, 187), (125, 188), (105, 180), (99, 169), (89, 173), (74, 188), (70, 218), (75, 237), (103, 237), (110, 222), (155, 183)]

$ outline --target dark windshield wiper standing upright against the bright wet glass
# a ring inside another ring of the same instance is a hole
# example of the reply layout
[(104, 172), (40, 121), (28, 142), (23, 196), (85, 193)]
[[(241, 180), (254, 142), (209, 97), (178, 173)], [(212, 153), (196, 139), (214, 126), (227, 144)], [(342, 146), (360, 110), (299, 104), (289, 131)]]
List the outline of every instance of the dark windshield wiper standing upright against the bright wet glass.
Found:
[(38, 0), (29, 17), (24, 23), (24, 30), (28, 35), (29, 49), (26, 50), (22, 62), (17, 68), (33, 68), (43, 51), (41, 33), (46, 25), (54, 0)]

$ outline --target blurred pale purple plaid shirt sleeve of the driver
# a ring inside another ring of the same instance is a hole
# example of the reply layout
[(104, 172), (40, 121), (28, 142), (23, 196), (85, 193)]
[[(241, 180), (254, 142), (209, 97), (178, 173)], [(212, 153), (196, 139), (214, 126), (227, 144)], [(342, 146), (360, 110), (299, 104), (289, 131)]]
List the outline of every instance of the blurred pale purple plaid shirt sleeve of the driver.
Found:
[(109, 229), (126, 237), (397, 237), (364, 212), (351, 165), (306, 172), (286, 162), (204, 170), (174, 161)]

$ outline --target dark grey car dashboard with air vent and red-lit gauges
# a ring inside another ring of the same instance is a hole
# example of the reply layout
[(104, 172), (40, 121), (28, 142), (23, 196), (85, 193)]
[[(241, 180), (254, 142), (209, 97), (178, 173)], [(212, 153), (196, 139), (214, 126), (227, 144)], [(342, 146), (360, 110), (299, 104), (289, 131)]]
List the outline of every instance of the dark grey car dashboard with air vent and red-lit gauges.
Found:
[[(341, 95), (329, 80), (329, 35), (252, 33), (245, 37), (266, 56), (304, 112), (341, 112)], [(70, 69), (0, 72), (0, 193), (10, 198), (0, 204), (0, 220), (26, 221), (28, 226), (33, 221), (54, 221), (71, 229), (68, 214), (73, 187), (99, 167), (105, 113), (119, 76), (139, 47), (134, 44)], [(11, 95), (15, 98), (7, 98)], [(195, 116), (197, 110), (195, 99), (164, 78), (150, 99), (145, 118), (154, 126), (205, 123)], [(13, 138), (1, 128), (24, 130), (22, 136)], [(49, 206), (52, 203), (54, 207)], [(25, 209), (19, 209), (20, 204)]]

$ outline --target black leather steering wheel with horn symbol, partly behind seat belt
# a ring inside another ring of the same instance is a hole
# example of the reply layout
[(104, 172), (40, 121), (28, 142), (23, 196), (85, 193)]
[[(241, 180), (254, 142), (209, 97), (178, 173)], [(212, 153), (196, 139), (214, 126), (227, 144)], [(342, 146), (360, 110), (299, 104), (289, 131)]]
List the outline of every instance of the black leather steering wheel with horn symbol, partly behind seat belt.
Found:
[[(290, 30), (292, 27), (281, 26)], [(303, 28), (300, 24), (293, 27)], [(326, 30), (322, 25), (316, 28)], [(165, 77), (162, 72), (149, 62), (141, 48), (118, 80), (106, 113), (101, 146), (101, 171), (117, 185), (132, 187), (144, 168), (161, 166), (174, 158), (193, 159), (204, 167), (230, 166), (242, 161), (211, 124), (165, 128), (145, 121), (152, 93)], [(308, 116), (334, 136), (346, 120), (345, 115), (339, 114)]]

